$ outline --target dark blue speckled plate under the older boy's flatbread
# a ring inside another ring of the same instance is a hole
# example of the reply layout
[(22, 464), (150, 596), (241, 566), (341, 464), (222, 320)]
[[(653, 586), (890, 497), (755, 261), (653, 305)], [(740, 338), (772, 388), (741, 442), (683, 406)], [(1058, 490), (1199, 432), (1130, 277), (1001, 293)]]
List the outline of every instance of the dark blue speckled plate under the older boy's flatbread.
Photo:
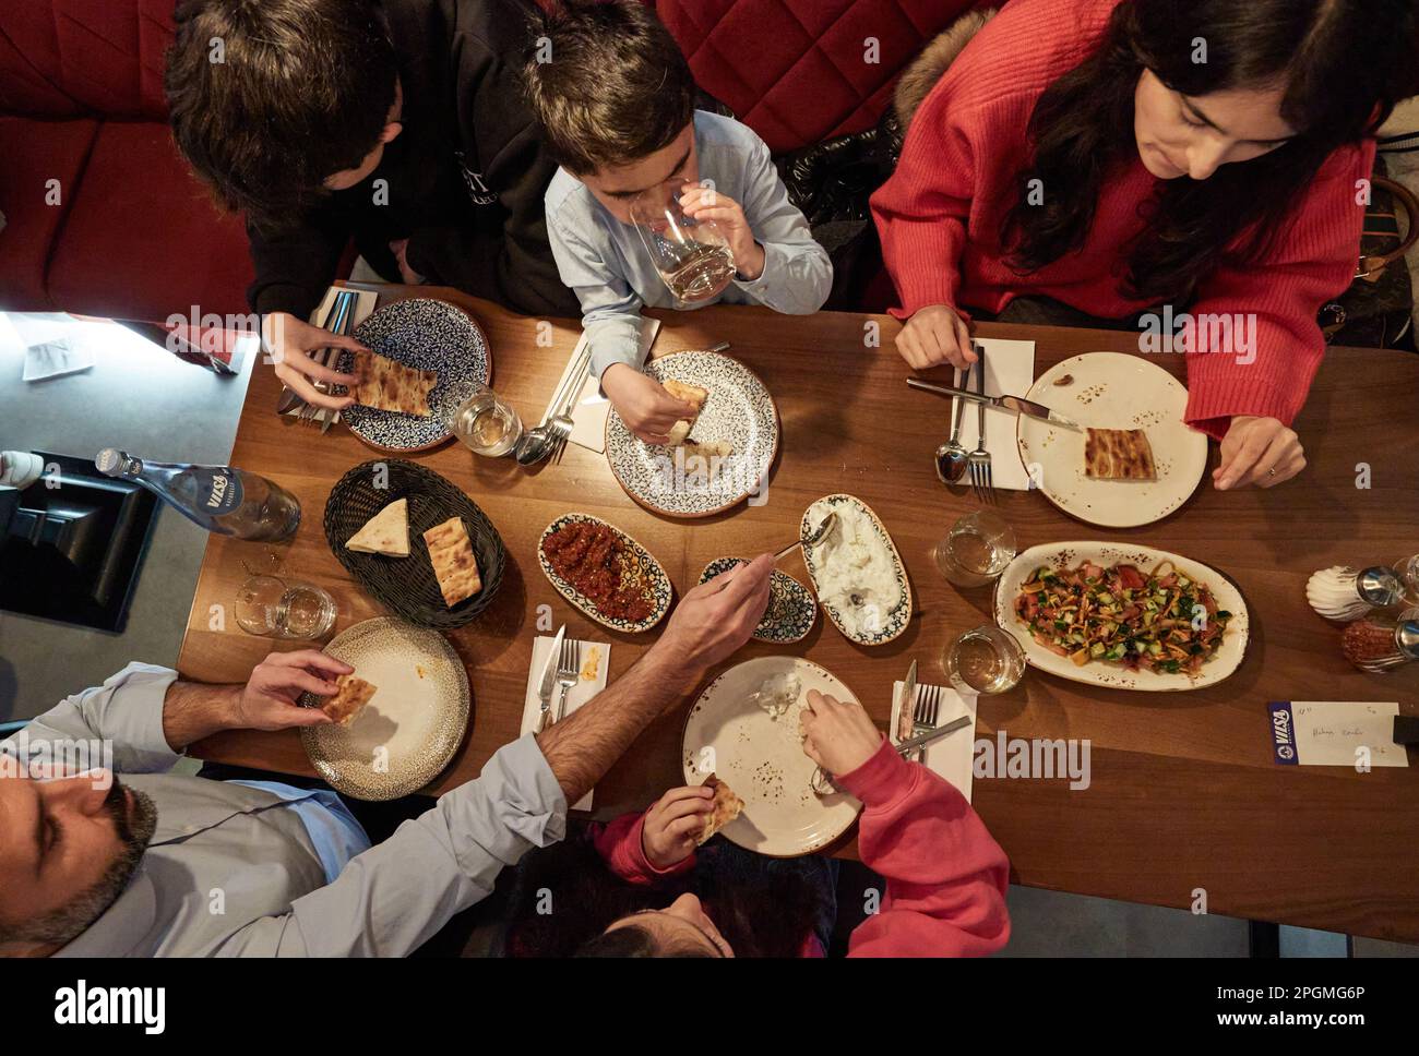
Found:
[[(463, 309), (447, 300), (396, 300), (356, 326), (353, 336), (380, 356), (438, 374), (438, 384), (429, 394), (427, 418), (362, 404), (341, 411), (350, 432), (380, 451), (424, 451), (443, 444), (453, 435), (448, 415), (468, 384), (488, 384), (492, 377), (488, 339)], [(342, 352), (335, 369), (345, 373), (352, 363), (353, 354)]]

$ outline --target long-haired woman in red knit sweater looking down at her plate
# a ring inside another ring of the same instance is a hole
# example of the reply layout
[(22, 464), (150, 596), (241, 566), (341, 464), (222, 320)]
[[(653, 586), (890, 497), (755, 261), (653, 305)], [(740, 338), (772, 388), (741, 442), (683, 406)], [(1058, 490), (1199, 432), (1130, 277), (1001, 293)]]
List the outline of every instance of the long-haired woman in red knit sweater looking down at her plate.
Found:
[[(1010, 0), (911, 120), (873, 196), (917, 369), (1016, 298), (1196, 325), (1186, 420), (1218, 488), (1305, 458), (1288, 428), (1344, 291), (1375, 159), (1412, 92), (1416, 0)], [(1226, 318), (1235, 325), (1208, 325)], [(1142, 344), (1141, 344), (1142, 350)]]

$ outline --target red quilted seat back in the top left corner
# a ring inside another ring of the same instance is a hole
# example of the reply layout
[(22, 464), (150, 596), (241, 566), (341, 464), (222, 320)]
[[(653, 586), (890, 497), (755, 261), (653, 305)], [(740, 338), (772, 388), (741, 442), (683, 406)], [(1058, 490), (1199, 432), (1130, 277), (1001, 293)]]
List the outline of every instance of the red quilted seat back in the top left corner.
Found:
[(175, 0), (0, 1), (0, 112), (166, 120)]

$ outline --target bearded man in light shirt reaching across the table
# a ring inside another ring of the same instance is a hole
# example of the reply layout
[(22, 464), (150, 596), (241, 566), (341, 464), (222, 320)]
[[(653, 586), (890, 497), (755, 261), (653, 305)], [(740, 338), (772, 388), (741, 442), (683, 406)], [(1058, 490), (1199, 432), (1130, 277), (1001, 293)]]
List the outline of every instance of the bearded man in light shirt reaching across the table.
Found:
[(245, 685), (209, 686), (131, 663), (0, 743), (0, 955), (416, 950), (504, 866), (561, 839), (568, 802), (748, 641), (771, 568), (763, 556), (688, 591), (624, 676), (377, 846), (328, 792), (166, 773), (220, 730), (325, 721), (295, 700), (331, 693), (345, 665), (272, 653)]

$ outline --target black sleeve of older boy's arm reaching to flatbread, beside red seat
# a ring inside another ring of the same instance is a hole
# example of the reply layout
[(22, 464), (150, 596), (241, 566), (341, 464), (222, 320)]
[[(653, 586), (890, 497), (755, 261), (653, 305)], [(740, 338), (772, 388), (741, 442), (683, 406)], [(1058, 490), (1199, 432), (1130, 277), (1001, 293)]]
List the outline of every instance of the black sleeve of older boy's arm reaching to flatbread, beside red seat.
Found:
[(348, 223), (331, 215), (328, 206), (280, 231), (263, 231), (248, 221), (247, 238), (257, 274), (247, 286), (253, 310), (261, 315), (289, 312), (302, 322), (308, 319), (335, 281), (349, 237)]

